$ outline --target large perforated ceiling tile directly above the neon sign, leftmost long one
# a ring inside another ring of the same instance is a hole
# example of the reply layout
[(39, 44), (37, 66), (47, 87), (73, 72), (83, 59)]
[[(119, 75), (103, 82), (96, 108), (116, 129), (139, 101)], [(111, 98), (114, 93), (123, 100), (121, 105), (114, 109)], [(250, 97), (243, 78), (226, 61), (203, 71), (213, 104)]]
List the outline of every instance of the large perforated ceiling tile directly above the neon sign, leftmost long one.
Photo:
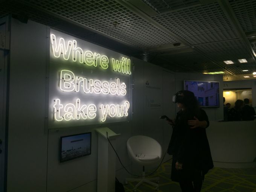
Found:
[(136, 47), (177, 42), (114, 0), (27, 0), (23, 2), (59, 14)]

